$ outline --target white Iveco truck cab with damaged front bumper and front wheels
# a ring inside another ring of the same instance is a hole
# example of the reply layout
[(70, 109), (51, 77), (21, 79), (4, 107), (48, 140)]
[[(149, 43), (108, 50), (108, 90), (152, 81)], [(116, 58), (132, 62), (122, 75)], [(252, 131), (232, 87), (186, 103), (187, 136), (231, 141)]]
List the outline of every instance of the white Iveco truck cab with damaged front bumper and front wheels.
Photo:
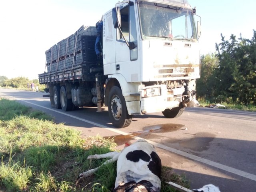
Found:
[(114, 126), (127, 126), (134, 114), (175, 118), (199, 105), (195, 12), (186, 0), (130, 0), (104, 14), (105, 104)]

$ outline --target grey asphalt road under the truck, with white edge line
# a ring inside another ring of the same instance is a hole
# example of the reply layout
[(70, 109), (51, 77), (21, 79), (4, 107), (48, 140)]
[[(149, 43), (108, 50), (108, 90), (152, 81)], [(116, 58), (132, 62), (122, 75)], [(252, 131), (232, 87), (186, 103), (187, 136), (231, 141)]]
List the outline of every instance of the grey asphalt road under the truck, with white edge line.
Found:
[(51, 108), (44, 94), (0, 88), (0, 97), (51, 114), (55, 122), (81, 130), (83, 136), (115, 136), (120, 149), (130, 140), (149, 140), (157, 147), (162, 164), (184, 174), (191, 189), (214, 184), (221, 192), (256, 191), (255, 112), (186, 108), (179, 118), (167, 119), (162, 113), (134, 116), (128, 128), (116, 129), (107, 108), (64, 112)]

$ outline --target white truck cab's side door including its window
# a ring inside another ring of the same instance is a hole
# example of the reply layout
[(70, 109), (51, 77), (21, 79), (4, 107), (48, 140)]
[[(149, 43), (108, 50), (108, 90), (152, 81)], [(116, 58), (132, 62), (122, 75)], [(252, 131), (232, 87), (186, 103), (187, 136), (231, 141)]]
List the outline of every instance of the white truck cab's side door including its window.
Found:
[(138, 25), (135, 6), (120, 6), (121, 30), (128, 42), (134, 42), (136, 48), (130, 50), (121, 32), (116, 29), (116, 74), (122, 74), (127, 82), (140, 82), (140, 62), (138, 58)]

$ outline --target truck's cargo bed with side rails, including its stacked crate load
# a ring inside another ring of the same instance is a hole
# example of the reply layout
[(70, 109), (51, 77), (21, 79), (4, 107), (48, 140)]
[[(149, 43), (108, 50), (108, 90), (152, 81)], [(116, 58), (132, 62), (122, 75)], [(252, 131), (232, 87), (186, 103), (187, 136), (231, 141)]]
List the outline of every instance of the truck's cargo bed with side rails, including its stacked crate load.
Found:
[(82, 26), (68, 38), (46, 50), (46, 71), (39, 74), (39, 83), (65, 80), (94, 80), (97, 68), (103, 72), (103, 62), (94, 50), (96, 27)]

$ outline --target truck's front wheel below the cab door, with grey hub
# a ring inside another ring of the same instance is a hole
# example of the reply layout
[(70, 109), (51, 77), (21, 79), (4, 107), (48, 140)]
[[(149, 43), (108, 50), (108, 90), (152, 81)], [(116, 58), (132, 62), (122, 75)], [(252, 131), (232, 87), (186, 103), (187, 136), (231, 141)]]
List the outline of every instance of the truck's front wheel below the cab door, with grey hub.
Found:
[(113, 86), (108, 97), (108, 114), (116, 128), (124, 128), (132, 122), (132, 115), (128, 114), (122, 90)]

